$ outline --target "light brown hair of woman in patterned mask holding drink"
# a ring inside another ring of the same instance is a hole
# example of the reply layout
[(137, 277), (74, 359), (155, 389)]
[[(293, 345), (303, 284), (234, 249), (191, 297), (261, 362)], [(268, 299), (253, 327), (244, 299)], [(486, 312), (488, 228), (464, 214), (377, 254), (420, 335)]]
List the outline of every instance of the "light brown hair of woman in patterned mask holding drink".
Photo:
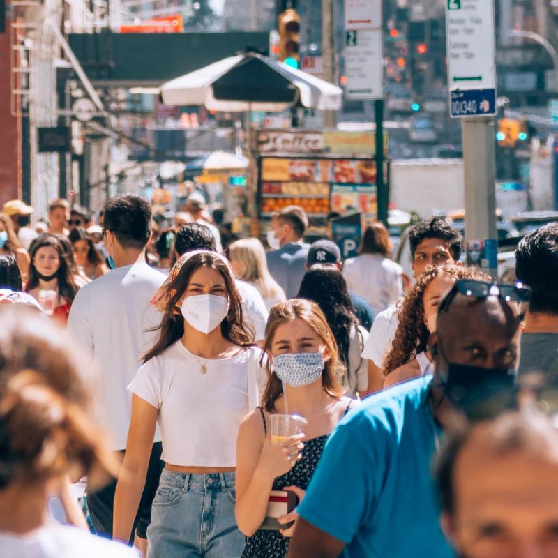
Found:
[[(277, 329), (282, 324), (293, 322), (295, 319), (301, 319), (310, 326), (316, 335), (324, 342), (324, 345), (331, 354), (331, 359), (324, 365), (324, 372), (322, 373), (322, 387), (324, 391), (332, 397), (341, 397), (344, 393), (342, 386), (339, 382), (339, 377), (342, 373), (338, 359), (337, 343), (333, 338), (333, 333), (329, 329), (326, 322), (324, 312), (319, 309), (319, 306), (304, 299), (292, 299), (286, 302), (280, 302), (271, 308), (269, 312), (269, 319), (266, 325), (266, 338), (262, 352), (262, 365), (264, 364), (265, 355), (271, 353), (271, 346), (275, 338)], [(267, 363), (269, 378), (266, 384), (266, 389), (262, 397), (262, 407), (268, 412), (273, 412), (276, 400), (283, 393), (283, 384), (276, 376), (275, 372), (271, 371), (269, 359)]]

